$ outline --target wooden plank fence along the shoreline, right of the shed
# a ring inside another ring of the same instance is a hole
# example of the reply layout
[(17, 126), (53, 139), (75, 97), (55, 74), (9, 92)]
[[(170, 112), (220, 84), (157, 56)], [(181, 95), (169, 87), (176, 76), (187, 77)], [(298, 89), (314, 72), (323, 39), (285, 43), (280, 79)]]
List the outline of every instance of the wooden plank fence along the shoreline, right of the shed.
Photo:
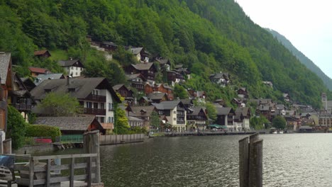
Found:
[(123, 143), (143, 142), (144, 134), (133, 135), (101, 135), (100, 145), (116, 145)]

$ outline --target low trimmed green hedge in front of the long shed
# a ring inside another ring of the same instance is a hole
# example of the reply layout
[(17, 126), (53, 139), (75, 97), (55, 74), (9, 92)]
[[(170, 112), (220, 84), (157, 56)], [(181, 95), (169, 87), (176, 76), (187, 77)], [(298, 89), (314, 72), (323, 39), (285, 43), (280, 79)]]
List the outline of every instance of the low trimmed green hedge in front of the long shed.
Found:
[(27, 137), (51, 137), (55, 142), (55, 137), (60, 137), (61, 132), (59, 128), (50, 127), (48, 125), (28, 125), (26, 129)]

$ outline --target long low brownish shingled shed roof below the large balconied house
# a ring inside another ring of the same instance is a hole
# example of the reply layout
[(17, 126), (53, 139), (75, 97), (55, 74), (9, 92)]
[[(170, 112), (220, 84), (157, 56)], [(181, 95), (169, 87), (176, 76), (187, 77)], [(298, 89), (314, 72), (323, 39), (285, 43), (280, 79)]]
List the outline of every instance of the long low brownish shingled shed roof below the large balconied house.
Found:
[[(94, 116), (86, 117), (39, 117), (35, 120), (35, 124), (48, 125), (52, 127), (60, 128), (60, 130), (77, 130), (85, 131), (92, 122), (96, 120)], [(96, 120), (96, 123), (99, 123)], [(99, 123), (99, 128), (101, 124)]]

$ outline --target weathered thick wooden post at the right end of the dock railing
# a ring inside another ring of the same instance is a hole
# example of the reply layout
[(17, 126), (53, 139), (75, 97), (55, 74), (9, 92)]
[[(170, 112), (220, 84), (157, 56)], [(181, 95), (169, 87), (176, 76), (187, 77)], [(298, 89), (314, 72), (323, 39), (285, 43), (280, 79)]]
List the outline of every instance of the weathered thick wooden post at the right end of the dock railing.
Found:
[(84, 150), (85, 153), (96, 153), (97, 157), (95, 159), (96, 167), (94, 168), (95, 178), (93, 183), (101, 183), (100, 179), (100, 153), (99, 153), (99, 130), (94, 130), (91, 132), (86, 132), (83, 135)]

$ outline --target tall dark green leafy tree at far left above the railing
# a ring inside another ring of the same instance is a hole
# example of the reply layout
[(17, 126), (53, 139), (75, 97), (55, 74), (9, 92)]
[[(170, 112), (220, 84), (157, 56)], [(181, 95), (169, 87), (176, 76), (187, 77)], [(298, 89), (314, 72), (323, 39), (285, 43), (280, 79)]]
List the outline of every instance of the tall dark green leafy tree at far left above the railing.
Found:
[(26, 121), (16, 108), (8, 106), (8, 120), (6, 138), (11, 138), (11, 147), (23, 147), (26, 136)]

